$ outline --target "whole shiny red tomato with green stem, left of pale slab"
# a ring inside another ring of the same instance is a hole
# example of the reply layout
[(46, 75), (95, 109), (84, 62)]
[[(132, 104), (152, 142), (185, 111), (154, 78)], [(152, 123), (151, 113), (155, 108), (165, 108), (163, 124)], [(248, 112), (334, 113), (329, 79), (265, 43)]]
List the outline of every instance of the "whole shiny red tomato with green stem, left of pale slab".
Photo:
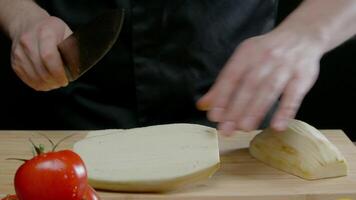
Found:
[(42, 153), (16, 172), (19, 200), (82, 200), (88, 190), (82, 159), (73, 151)]

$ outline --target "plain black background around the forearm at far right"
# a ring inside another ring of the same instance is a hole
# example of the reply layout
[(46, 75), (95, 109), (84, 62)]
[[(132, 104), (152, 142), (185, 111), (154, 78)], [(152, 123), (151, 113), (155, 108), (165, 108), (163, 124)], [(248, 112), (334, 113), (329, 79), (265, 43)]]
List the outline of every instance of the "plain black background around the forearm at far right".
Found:
[[(301, 1), (280, 1), (279, 21)], [(298, 112), (302, 119), (320, 129), (343, 129), (356, 140), (356, 40), (327, 53), (320, 75)]]

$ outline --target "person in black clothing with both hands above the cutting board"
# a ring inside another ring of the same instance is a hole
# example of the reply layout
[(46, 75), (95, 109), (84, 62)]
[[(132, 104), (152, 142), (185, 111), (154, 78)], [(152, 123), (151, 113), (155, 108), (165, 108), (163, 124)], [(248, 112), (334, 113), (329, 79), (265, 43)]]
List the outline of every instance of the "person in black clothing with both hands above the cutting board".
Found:
[[(0, 0), (0, 25), (19, 79), (56, 99), (53, 129), (188, 122), (228, 135), (285, 129), (320, 58), (356, 33), (356, 1), (305, 0), (275, 27), (277, 3)], [(57, 44), (113, 8), (125, 9), (119, 41), (68, 85)]]

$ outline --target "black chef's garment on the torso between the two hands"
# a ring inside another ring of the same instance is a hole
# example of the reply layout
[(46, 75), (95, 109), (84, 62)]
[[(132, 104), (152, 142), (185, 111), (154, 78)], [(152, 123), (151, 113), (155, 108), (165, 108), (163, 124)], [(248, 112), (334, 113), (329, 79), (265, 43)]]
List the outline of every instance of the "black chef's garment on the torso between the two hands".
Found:
[(196, 101), (239, 43), (273, 28), (277, 11), (277, 0), (38, 3), (73, 30), (107, 9), (126, 13), (119, 41), (103, 60), (68, 87), (41, 94), (47, 129), (213, 125)]

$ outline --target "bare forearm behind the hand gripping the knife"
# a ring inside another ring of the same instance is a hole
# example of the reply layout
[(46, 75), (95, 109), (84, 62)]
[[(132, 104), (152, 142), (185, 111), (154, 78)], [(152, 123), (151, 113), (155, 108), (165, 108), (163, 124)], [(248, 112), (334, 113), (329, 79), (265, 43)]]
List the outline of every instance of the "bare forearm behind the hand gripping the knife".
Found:
[(47, 16), (32, 0), (0, 0), (0, 27), (10, 38)]

